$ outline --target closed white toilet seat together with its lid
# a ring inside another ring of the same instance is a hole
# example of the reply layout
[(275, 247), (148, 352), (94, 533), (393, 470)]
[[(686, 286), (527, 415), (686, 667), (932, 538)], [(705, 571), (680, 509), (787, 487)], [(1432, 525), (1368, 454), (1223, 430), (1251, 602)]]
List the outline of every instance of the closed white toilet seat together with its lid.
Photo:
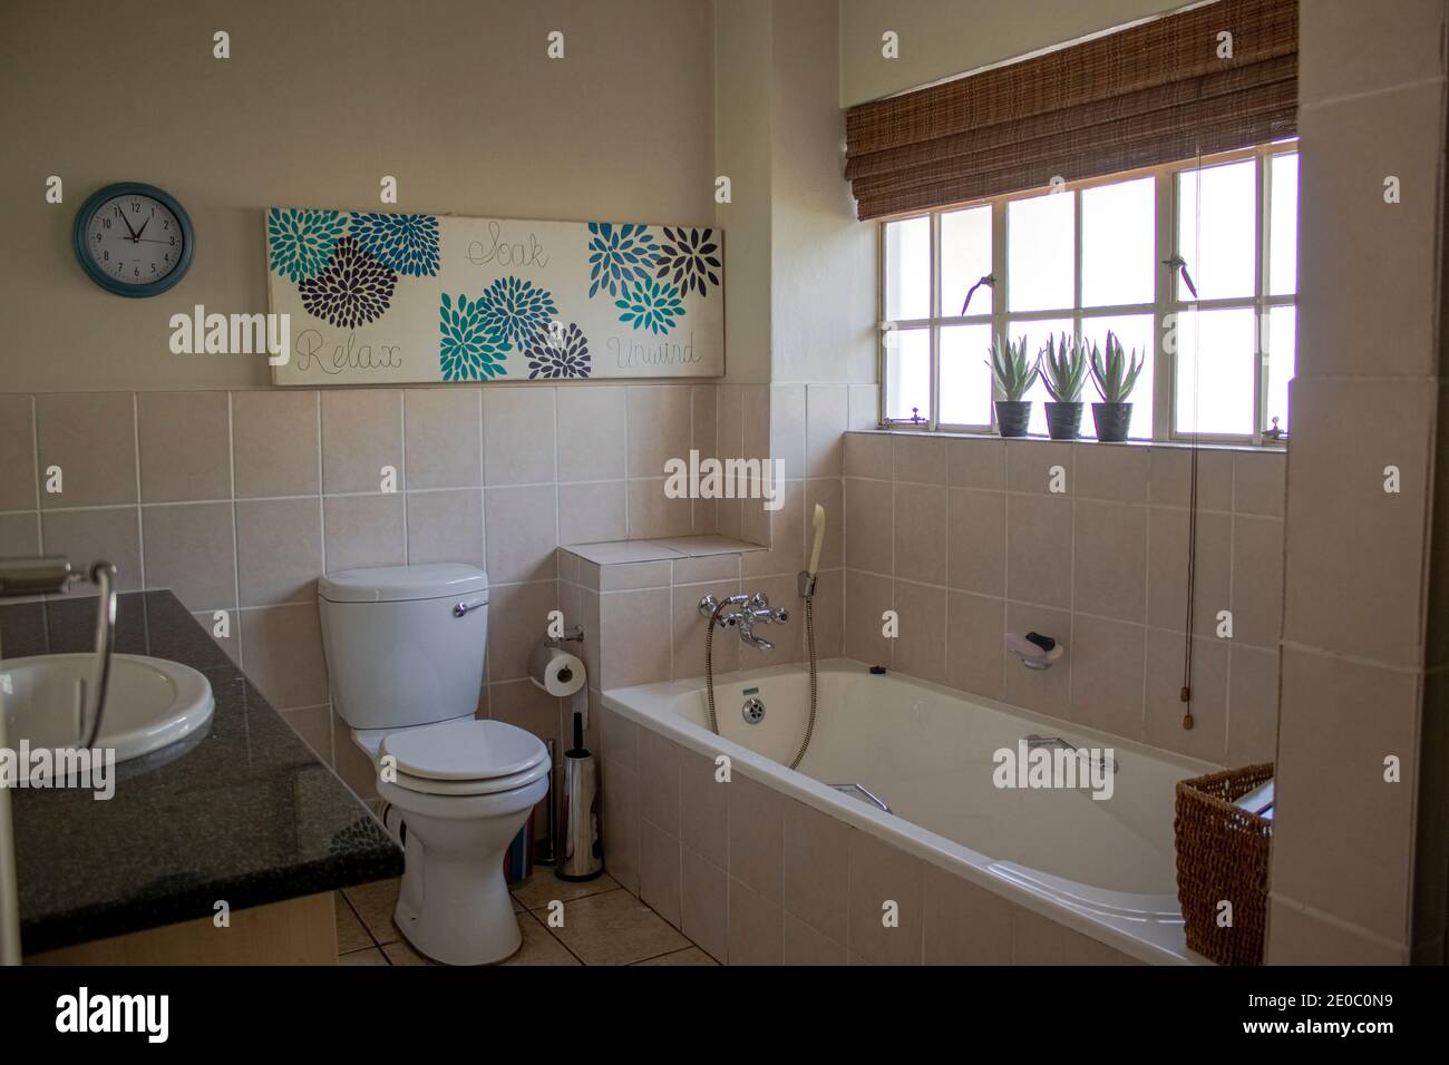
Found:
[(543, 742), (504, 722), (465, 717), (383, 736), (378, 756), (391, 756), (396, 785), (427, 795), (491, 795), (548, 775)]

